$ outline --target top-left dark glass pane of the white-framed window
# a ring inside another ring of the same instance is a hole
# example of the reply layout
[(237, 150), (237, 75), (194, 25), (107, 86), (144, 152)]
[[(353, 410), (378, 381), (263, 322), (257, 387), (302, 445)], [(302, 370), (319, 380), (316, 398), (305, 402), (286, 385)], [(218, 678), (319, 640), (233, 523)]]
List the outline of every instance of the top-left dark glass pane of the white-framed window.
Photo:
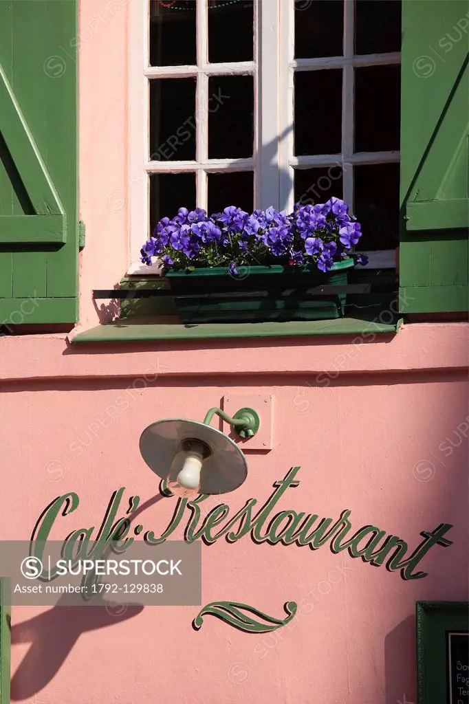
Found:
[(195, 1), (151, 0), (150, 65), (193, 66), (196, 56)]

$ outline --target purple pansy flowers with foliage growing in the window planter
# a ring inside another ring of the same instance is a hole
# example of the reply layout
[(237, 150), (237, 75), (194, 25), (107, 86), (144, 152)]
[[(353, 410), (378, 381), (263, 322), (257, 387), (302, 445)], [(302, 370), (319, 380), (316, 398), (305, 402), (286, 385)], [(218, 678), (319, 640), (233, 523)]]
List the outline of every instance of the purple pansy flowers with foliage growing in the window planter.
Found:
[(297, 203), (288, 215), (273, 206), (253, 213), (228, 206), (211, 216), (202, 208), (180, 208), (172, 220), (158, 222), (141, 254), (148, 265), (151, 257), (161, 258), (165, 268), (227, 266), (235, 273), (249, 263), (314, 263), (327, 272), (341, 259), (367, 263), (353, 251), (360, 237), (360, 223), (338, 198), (313, 206)]

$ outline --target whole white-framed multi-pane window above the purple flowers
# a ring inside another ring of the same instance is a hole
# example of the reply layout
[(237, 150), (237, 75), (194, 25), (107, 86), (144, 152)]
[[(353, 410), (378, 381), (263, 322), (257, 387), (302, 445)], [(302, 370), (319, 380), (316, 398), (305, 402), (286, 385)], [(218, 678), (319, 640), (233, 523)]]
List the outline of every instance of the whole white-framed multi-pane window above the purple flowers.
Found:
[(342, 196), (362, 249), (394, 249), (400, 12), (397, 0), (132, 0), (129, 273), (151, 272), (142, 240), (182, 205)]

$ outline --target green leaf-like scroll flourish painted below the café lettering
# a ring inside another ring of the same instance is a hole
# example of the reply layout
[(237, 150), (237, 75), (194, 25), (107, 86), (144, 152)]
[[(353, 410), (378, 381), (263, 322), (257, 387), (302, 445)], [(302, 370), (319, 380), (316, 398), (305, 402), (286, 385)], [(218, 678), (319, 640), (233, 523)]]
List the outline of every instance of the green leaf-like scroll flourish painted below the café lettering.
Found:
[[(286, 626), (296, 614), (298, 605), (295, 601), (287, 601), (284, 603), (283, 608), (287, 613), (287, 618), (278, 619), (273, 616), (268, 616), (248, 604), (240, 604), (236, 601), (211, 601), (211, 603), (204, 606), (204, 608), (199, 611), (199, 614), (196, 615), (192, 622), (192, 627), (194, 630), (198, 631), (204, 623), (204, 616), (211, 615), (225, 621), (225, 623), (230, 624), (230, 626), (237, 628), (239, 631), (245, 631), (246, 633), (269, 633), (270, 631), (276, 631), (277, 628)], [(252, 618), (249, 613), (243, 613), (240, 609), (254, 614), (256, 617), (263, 619), (264, 622)]]

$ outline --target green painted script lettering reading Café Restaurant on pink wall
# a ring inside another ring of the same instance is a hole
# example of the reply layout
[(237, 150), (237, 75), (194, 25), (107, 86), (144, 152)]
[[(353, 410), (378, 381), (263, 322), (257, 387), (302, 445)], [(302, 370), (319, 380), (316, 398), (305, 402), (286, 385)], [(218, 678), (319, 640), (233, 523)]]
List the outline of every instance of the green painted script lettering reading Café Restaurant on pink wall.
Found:
[[(206, 544), (211, 545), (225, 537), (228, 543), (235, 543), (247, 534), (251, 534), (251, 539), (257, 544), (268, 542), (271, 545), (282, 543), (287, 546), (295, 543), (299, 547), (309, 545), (311, 550), (318, 550), (329, 542), (330, 550), (333, 553), (348, 550), (352, 558), (361, 558), (363, 562), (368, 562), (373, 567), (380, 567), (386, 562), (386, 569), (389, 572), (400, 570), (402, 579), (427, 577), (427, 572), (414, 571), (420, 560), (434, 545), (447, 547), (452, 544), (452, 541), (443, 537), (452, 526), (449, 523), (442, 523), (432, 532), (422, 532), (423, 541), (408, 558), (404, 559), (408, 551), (406, 541), (398, 536), (387, 535), (377, 526), (363, 526), (351, 537), (348, 537), (352, 529), (349, 509), (343, 510), (335, 522), (330, 517), (321, 518), (318, 522), (317, 514), (306, 515), (305, 512), (297, 513), (291, 509), (282, 510), (269, 520), (273, 508), (287, 489), (299, 486), (299, 481), (295, 479), (299, 469), (300, 467), (291, 467), (284, 479), (274, 482), (275, 491), (261, 505), (254, 517), (254, 507), (258, 503), (256, 498), (248, 499), (244, 506), (229, 520), (227, 519), (230, 515), (230, 507), (225, 503), (215, 506), (202, 519), (201, 505), (208, 498), (207, 495), (198, 496), (193, 501), (187, 501), (187, 498), (178, 498), (173, 517), (161, 536), (156, 538), (153, 531), (146, 531), (144, 541), (149, 545), (163, 543), (180, 525), (185, 517), (185, 509), (188, 508), (190, 516), (185, 527), (185, 541), (187, 542), (201, 538)], [(122, 517), (116, 520), (124, 491), (125, 488), (121, 487), (111, 496), (92, 548), (89, 548), (89, 543), (93, 541), (94, 526), (76, 529), (65, 538), (63, 558), (75, 562), (81, 557), (101, 557), (106, 546), (109, 550), (123, 553), (132, 544), (134, 538), (127, 537), (130, 531), (130, 518)], [(44, 545), (49, 539), (51, 529), (58, 520), (59, 514), (67, 516), (69, 513), (73, 513), (79, 503), (80, 499), (77, 494), (71, 492), (58, 496), (46, 506), (32, 532), (31, 555), (42, 559)], [(127, 510), (127, 514), (137, 508), (139, 497), (132, 497), (129, 503), (130, 509)], [(215, 532), (215, 529), (218, 529), (218, 532)], [(263, 532), (264, 530), (265, 532)], [(54, 576), (56, 576), (56, 567), (46, 577), (43, 574), (43, 579), (54, 579)]]

